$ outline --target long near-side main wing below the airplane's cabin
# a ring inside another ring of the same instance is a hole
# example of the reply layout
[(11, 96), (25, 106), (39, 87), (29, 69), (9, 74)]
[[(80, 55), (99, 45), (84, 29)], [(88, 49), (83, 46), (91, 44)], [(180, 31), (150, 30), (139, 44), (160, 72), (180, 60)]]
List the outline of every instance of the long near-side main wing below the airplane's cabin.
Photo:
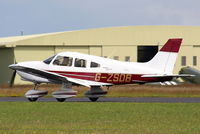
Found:
[(38, 70), (38, 69), (24, 67), (24, 66), (14, 66), (14, 67), (10, 67), (10, 68), (17, 70), (17, 71), (22, 71), (22, 72), (25, 72), (28, 74), (32, 74), (32, 75), (35, 75), (38, 77), (48, 79), (50, 82), (53, 82), (53, 83), (71, 82), (71, 83), (75, 83), (75, 84), (83, 85), (83, 86), (87, 86), (87, 87), (112, 85), (109, 83), (94, 82), (94, 81), (89, 81), (89, 80), (70, 78), (70, 77), (62, 76), (62, 75), (54, 73), (54, 72), (49, 72), (46, 70)]

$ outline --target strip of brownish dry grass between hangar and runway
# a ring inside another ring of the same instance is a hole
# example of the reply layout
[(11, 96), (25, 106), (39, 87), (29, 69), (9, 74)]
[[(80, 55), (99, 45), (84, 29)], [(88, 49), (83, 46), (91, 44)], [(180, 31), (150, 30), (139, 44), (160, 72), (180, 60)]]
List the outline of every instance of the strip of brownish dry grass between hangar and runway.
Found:
[[(25, 92), (32, 89), (32, 85), (0, 86), (0, 96), (24, 96)], [(49, 96), (53, 91), (60, 88), (60, 85), (40, 85), (39, 89), (49, 91)], [(73, 87), (78, 91), (77, 97), (83, 97), (87, 87)], [(200, 97), (200, 85), (121, 85), (112, 86), (108, 90), (108, 97)]]

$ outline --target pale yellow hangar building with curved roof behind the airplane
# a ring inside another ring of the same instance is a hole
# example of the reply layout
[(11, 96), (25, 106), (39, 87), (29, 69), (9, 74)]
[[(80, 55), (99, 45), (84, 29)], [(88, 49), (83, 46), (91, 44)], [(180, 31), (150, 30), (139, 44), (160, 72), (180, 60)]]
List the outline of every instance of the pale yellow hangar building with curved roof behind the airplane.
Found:
[[(183, 38), (174, 73), (184, 66), (200, 68), (199, 26), (127, 26), (0, 38), (0, 84), (10, 83), (9, 64), (44, 60), (76, 51), (121, 61), (150, 60), (169, 38)], [(19, 76), (15, 84), (24, 84)]]

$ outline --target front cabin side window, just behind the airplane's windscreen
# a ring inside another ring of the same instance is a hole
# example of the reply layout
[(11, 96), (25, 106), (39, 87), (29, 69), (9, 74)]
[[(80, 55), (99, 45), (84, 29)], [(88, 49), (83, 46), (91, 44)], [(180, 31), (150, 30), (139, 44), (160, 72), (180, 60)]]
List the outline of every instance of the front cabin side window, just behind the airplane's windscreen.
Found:
[(53, 65), (72, 66), (72, 61), (73, 58), (71, 57), (57, 56), (56, 59), (53, 61)]

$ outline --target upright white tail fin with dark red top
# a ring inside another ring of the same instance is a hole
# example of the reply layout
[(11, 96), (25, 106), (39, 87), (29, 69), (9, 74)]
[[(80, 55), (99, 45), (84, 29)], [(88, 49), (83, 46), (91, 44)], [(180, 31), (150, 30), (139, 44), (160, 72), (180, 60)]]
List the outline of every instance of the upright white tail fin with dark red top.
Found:
[(169, 39), (158, 53), (147, 63), (149, 67), (172, 73), (182, 39)]

